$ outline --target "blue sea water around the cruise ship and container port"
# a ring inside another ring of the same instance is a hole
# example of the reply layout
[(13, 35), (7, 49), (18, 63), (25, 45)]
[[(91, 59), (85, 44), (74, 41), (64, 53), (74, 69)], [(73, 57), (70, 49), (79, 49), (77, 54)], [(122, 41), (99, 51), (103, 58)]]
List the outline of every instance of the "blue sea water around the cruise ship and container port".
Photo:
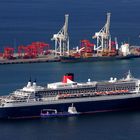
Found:
[[(118, 41), (140, 45), (139, 0), (0, 0), (0, 52), (33, 41), (50, 40), (69, 14), (70, 46), (91, 39), (111, 12), (111, 34)], [(76, 81), (122, 78), (128, 70), (140, 78), (140, 59), (93, 63), (34, 63), (0, 65), (0, 95), (27, 84), (29, 78), (46, 85), (67, 72)], [(0, 121), (1, 140), (139, 140), (140, 111), (83, 115), (69, 118)]]

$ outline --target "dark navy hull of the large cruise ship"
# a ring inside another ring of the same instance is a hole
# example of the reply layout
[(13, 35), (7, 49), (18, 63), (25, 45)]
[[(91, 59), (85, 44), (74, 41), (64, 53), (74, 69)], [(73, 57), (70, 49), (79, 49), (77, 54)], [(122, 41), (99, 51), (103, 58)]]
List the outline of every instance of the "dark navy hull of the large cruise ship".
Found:
[[(58, 112), (67, 112), (68, 107), (73, 102), (56, 103), (46, 105), (30, 105), (24, 107), (3, 107), (0, 108), (1, 119), (22, 119), (22, 118), (40, 118), (42, 109), (56, 109)], [(140, 97), (98, 100), (86, 102), (74, 102), (77, 112), (80, 114), (121, 111), (121, 110), (139, 110)]]

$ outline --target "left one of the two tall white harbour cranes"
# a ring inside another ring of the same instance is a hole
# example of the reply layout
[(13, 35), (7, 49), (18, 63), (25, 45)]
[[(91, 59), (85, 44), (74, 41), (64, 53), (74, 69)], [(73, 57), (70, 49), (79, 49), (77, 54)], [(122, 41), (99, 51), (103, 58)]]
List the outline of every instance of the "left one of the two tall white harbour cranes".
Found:
[(68, 17), (69, 15), (65, 15), (64, 26), (51, 39), (55, 41), (55, 56), (69, 55)]

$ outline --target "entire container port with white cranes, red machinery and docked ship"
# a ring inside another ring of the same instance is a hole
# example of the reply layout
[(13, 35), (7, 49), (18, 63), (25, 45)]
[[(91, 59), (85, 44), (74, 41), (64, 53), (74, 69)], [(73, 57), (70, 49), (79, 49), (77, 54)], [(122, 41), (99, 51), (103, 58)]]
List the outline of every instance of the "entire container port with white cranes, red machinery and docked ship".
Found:
[(55, 42), (51, 48), (45, 42), (32, 42), (27, 46), (18, 46), (17, 52), (13, 47), (5, 47), (0, 52), (0, 64), (18, 63), (41, 63), (41, 62), (94, 62), (106, 60), (121, 60), (140, 57), (140, 46), (130, 46), (128, 43), (118, 44), (110, 34), (110, 13), (107, 13), (107, 20), (103, 28), (96, 32), (92, 39), (81, 40), (80, 46), (69, 47), (68, 18), (65, 15), (65, 22), (61, 30), (54, 34), (52, 39)]

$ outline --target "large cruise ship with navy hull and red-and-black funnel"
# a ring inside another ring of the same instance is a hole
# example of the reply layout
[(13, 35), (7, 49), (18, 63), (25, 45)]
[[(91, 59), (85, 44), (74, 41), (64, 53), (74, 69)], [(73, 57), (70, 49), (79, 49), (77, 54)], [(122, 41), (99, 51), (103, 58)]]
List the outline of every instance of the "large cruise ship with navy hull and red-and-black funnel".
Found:
[[(140, 79), (134, 78), (130, 71), (122, 79), (111, 77), (103, 81), (76, 82), (73, 73), (65, 74), (61, 82), (46, 86), (29, 80), (23, 88), (0, 96), (1, 119), (136, 109), (140, 109)], [(51, 115), (53, 111), (55, 114)]]

